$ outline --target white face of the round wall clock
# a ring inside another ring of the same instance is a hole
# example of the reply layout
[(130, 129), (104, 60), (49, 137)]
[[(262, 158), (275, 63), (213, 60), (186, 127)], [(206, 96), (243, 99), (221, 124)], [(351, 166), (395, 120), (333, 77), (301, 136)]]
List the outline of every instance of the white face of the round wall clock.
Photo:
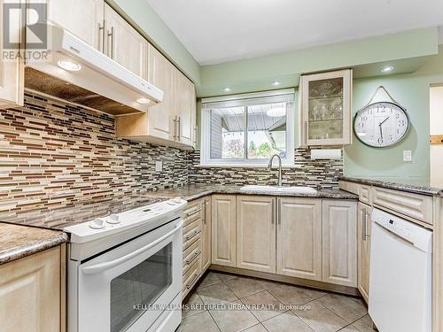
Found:
[(369, 104), (355, 115), (354, 133), (369, 146), (385, 147), (400, 142), (408, 133), (408, 113), (398, 104)]

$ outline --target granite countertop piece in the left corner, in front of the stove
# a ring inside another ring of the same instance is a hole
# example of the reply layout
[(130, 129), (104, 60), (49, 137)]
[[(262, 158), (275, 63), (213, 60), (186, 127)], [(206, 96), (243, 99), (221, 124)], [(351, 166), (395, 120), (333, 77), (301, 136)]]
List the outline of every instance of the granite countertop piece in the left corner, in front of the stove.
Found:
[(65, 232), (0, 223), (0, 265), (67, 241)]

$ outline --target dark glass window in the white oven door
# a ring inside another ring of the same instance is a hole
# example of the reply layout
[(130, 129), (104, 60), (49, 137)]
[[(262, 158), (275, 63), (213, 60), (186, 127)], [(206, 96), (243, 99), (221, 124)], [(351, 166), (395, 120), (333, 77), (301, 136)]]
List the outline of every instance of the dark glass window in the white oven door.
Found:
[(172, 243), (111, 282), (111, 331), (124, 331), (172, 283)]

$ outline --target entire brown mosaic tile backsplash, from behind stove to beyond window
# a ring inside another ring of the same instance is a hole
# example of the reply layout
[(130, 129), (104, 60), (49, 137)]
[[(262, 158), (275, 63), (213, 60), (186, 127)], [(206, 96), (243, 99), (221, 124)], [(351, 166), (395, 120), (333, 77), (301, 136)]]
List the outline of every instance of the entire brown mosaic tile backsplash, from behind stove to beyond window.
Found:
[[(343, 160), (295, 151), (284, 184), (338, 189)], [(155, 171), (155, 161), (163, 171)], [(199, 151), (117, 139), (113, 117), (26, 94), (24, 107), (0, 110), (0, 212), (73, 206), (187, 183), (269, 184), (265, 168), (199, 167)]]

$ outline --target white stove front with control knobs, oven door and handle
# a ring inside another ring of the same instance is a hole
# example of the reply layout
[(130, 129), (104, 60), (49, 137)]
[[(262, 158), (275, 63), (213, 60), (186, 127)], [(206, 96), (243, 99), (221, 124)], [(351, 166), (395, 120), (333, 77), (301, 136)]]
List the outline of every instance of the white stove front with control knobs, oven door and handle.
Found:
[(66, 227), (68, 332), (174, 331), (183, 207), (175, 198)]

